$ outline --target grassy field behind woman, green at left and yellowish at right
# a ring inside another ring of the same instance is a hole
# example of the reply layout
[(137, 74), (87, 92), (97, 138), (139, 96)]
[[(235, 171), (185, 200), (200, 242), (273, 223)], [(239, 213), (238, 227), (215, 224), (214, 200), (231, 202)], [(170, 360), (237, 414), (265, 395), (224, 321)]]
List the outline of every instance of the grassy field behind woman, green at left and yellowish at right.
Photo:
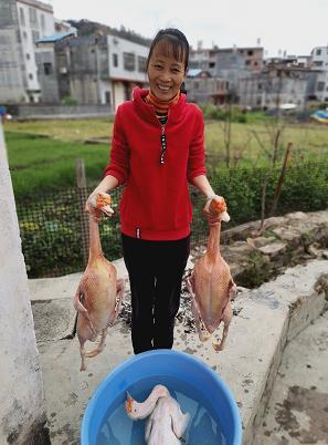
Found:
[[(268, 163), (278, 127), (274, 120), (256, 121), (231, 125), (232, 167), (258, 167)], [(293, 143), (292, 157), (296, 161), (328, 158), (327, 127), (281, 123), (279, 128), (281, 158), (288, 142)], [(88, 184), (99, 182), (108, 162), (112, 131), (113, 122), (109, 120), (6, 123), (4, 135), (15, 195), (74, 186), (76, 158), (85, 162)], [(225, 165), (224, 123), (207, 122), (205, 147), (209, 165)]]

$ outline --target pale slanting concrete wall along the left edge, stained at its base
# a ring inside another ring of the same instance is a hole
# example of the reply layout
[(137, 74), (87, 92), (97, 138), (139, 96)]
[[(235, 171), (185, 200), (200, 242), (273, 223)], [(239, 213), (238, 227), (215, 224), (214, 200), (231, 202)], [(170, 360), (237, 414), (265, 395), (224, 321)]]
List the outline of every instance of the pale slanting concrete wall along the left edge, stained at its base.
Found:
[(0, 444), (50, 444), (28, 277), (0, 124)]

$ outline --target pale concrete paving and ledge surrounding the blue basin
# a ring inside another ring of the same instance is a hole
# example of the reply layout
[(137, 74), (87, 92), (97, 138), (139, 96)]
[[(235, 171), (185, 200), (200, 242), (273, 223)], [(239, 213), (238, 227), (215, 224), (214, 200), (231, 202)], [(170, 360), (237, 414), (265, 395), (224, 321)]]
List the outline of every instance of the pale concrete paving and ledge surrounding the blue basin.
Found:
[[(220, 353), (213, 351), (211, 342), (201, 343), (195, 333), (188, 333), (187, 327), (177, 322), (174, 349), (207, 362), (234, 394), (245, 445), (253, 443), (287, 341), (327, 309), (328, 290), (327, 294), (322, 287), (316, 291), (318, 279), (327, 271), (327, 260), (311, 260), (287, 269), (258, 289), (242, 289), (234, 301), (237, 315), (226, 349)], [(64, 301), (72, 303), (71, 299)], [(105, 375), (133, 354), (130, 333), (123, 322), (112, 328), (106, 343), (102, 354), (87, 360), (87, 371), (80, 373), (77, 339), (39, 341), (52, 444), (78, 443), (88, 399)]]

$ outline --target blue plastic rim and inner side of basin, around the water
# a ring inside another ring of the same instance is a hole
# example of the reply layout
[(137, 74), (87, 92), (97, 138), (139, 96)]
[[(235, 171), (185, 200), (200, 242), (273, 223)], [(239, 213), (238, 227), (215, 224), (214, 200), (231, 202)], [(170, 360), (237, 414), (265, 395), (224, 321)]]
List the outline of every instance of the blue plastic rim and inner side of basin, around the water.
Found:
[[(81, 426), (81, 444), (97, 445), (96, 438), (110, 405), (126, 390), (155, 375), (182, 380), (202, 393), (220, 418), (226, 445), (241, 445), (242, 424), (234, 397), (223, 380), (201, 360), (174, 350), (155, 350), (134, 355), (117, 366), (99, 384), (85, 410)], [(149, 387), (150, 392), (151, 387)]]

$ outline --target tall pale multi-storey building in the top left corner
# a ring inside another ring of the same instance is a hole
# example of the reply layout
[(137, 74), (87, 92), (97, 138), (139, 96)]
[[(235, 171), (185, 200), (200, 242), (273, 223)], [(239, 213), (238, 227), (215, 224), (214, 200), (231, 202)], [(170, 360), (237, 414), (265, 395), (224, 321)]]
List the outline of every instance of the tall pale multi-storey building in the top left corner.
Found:
[(35, 41), (54, 32), (52, 6), (36, 0), (0, 2), (0, 100), (39, 102)]

